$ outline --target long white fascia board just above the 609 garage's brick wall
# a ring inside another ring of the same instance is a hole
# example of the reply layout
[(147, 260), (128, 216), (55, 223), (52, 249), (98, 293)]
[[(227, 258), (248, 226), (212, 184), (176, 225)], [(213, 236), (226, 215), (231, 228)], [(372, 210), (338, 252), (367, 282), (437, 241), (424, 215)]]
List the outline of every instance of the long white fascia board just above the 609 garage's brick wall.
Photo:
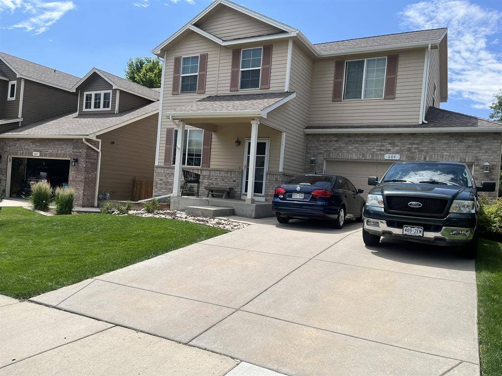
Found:
[(323, 133), (486, 133), (500, 132), (500, 127), (451, 127), (451, 128), (346, 128), (346, 129), (305, 129), (305, 134), (323, 134)]

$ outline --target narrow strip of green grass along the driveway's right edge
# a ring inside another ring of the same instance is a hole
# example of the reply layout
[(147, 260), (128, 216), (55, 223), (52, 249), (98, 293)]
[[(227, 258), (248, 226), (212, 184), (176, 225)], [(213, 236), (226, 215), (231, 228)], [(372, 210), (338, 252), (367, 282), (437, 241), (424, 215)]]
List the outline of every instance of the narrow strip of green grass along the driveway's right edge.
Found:
[(483, 376), (502, 374), (502, 243), (479, 239), (476, 259), (479, 352)]

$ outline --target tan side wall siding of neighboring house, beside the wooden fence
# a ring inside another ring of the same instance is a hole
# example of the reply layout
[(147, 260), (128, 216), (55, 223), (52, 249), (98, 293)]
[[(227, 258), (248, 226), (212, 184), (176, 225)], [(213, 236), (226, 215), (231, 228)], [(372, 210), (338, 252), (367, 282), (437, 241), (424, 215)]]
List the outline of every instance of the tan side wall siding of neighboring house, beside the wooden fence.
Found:
[(131, 200), (135, 177), (153, 181), (157, 120), (151, 115), (100, 136), (99, 193), (116, 191), (111, 199)]

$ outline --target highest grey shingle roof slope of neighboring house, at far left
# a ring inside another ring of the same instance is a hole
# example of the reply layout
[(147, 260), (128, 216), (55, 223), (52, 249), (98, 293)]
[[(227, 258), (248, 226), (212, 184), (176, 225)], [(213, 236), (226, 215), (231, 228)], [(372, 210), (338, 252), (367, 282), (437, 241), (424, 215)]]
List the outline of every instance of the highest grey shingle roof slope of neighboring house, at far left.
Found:
[(71, 74), (60, 72), (56, 69), (6, 54), (5, 52), (0, 52), (0, 57), (21, 76), (42, 81), (50, 86), (58, 86), (69, 90), (80, 80), (80, 78), (72, 76)]

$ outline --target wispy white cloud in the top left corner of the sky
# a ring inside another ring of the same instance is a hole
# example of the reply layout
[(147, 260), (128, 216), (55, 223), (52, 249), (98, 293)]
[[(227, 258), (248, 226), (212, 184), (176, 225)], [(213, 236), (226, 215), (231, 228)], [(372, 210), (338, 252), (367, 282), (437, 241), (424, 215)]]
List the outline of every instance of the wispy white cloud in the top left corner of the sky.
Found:
[(34, 35), (47, 31), (73, 9), (75, 9), (75, 4), (72, 1), (0, 0), (0, 12), (23, 11), (23, 13), (31, 15), (30, 18), (10, 26), (9, 29), (24, 29), (26, 32), (34, 32)]

